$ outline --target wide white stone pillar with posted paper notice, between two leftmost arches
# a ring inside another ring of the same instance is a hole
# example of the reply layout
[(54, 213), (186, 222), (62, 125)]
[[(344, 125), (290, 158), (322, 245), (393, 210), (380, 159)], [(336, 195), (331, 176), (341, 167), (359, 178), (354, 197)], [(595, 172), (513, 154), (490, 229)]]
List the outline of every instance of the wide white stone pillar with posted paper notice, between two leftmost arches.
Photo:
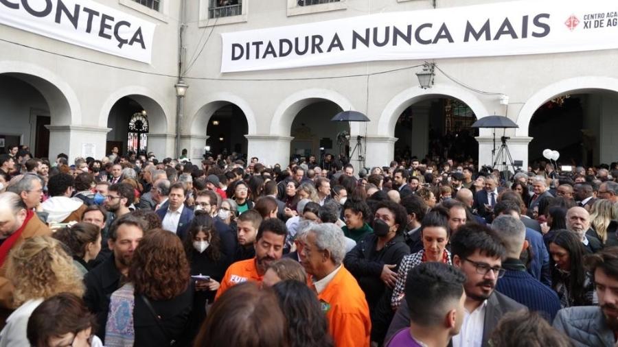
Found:
[(45, 128), (49, 129), (49, 159), (52, 163), (60, 153), (69, 156), (69, 163), (78, 156), (100, 159), (106, 155), (110, 128), (83, 125), (45, 125)]

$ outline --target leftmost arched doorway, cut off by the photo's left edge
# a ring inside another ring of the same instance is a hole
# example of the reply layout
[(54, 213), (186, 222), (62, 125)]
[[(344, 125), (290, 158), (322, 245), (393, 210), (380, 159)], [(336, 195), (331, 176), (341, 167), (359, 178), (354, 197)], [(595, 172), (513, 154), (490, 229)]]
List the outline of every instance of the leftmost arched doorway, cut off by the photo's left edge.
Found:
[[(26, 145), (37, 158), (47, 158), (47, 125), (71, 124), (71, 108), (64, 93), (42, 77), (0, 73), (0, 123), (0, 153), (8, 145)], [(54, 155), (69, 152), (68, 141), (54, 145)]]

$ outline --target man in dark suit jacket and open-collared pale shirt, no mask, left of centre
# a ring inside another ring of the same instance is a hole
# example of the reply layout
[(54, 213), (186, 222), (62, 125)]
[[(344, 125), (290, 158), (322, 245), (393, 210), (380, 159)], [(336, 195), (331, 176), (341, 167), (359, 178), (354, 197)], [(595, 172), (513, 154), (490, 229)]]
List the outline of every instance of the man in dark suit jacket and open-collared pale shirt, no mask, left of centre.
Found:
[(174, 232), (181, 240), (185, 239), (187, 228), (193, 219), (193, 210), (185, 206), (187, 190), (177, 182), (170, 187), (168, 201), (156, 212), (161, 218), (163, 229)]

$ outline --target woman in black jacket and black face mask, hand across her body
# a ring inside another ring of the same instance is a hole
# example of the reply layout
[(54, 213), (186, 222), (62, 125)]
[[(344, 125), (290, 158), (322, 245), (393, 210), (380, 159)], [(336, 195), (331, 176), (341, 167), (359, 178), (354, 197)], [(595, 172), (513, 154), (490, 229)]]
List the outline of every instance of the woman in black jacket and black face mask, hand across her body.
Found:
[(407, 224), (405, 208), (391, 200), (380, 202), (376, 208), (374, 231), (358, 241), (345, 255), (343, 264), (365, 292), (373, 327), (371, 341), (380, 344), (388, 324), (376, 324), (385, 322), (379, 313), (383, 310), (378, 307), (388, 305), (390, 288), (397, 279), (397, 267), (410, 253), (410, 248), (402, 235)]

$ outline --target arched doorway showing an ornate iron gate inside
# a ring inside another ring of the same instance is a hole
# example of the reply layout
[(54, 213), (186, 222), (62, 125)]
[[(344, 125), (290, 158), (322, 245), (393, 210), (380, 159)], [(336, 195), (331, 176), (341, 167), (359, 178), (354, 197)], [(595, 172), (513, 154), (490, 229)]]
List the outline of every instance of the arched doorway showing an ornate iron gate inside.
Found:
[(165, 156), (165, 144), (152, 146), (148, 134), (158, 128), (157, 133), (167, 129), (165, 114), (156, 101), (144, 95), (127, 95), (113, 104), (107, 118), (106, 154), (118, 147), (119, 155), (146, 154), (154, 152)]

